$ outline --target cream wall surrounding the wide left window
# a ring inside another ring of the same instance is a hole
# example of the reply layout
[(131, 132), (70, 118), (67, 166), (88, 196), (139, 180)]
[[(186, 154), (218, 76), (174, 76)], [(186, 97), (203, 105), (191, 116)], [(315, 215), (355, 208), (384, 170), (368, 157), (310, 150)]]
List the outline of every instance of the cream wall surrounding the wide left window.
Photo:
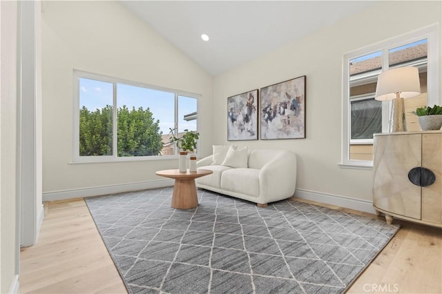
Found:
[(213, 78), (191, 59), (118, 1), (47, 1), (42, 16), (44, 199), (162, 180), (156, 170), (177, 166), (175, 160), (70, 164), (73, 69), (202, 95), (202, 152), (211, 152)]

